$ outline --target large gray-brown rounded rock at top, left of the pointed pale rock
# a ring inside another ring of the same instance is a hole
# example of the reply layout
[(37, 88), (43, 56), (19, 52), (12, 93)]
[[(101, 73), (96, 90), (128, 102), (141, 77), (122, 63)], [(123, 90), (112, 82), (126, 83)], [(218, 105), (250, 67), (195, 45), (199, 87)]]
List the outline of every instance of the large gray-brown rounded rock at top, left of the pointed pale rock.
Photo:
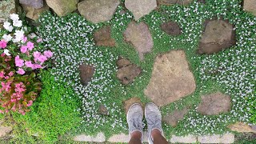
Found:
[(112, 18), (119, 3), (119, 0), (86, 0), (78, 3), (78, 10), (90, 22), (106, 22)]

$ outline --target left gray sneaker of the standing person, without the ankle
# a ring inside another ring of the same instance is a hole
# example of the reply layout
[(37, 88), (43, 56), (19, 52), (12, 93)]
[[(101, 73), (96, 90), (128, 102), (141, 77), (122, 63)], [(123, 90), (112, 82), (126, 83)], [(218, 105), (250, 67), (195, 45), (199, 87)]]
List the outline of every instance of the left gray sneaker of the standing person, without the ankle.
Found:
[[(139, 131), (142, 133), (143, 130), (143, 110), (142, 106), (139, 103), (134, 103), (130, 106), (128, 113), (126, 115), (126, 120), (129, 126), (129, 135), (132, 134), (134, 131)], [(141, 141), (143, 141), (143, 133)]]

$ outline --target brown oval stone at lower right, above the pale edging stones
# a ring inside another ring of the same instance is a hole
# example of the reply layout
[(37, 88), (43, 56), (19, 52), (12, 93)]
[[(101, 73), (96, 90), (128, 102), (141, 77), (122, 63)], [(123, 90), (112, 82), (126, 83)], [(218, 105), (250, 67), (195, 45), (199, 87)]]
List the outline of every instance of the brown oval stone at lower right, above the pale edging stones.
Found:
[(217, 115), (230, 111), (230, 96), (217, 92), (201, 97), (202, 102), (198, 105), (198, 112), (203, 115)]

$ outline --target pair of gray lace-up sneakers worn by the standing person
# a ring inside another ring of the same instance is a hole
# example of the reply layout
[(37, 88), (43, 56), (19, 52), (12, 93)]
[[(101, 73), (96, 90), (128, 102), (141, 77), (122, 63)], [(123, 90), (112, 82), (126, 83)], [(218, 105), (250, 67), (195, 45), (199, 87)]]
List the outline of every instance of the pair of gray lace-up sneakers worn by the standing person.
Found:
[[(130, 106), (128, 113), (126, 115), (126, 120), (129, 126), (129, 134), (132, 134), (134, 131), (139, 131), (142, 134), (143, 138), (143, 110), (142, 106), (139, 103), (134, 103)], [(145, 118), (148, 126), (148, 141), (150, 144), (153, 144), (153, 138), (151, 135), (152, 130), (159, 130), (162, 133), (162, 116), (158, 106), (154, 103), (147, 103), (145, 106)], [(141, 138), (141, 141), (143, 140)]]

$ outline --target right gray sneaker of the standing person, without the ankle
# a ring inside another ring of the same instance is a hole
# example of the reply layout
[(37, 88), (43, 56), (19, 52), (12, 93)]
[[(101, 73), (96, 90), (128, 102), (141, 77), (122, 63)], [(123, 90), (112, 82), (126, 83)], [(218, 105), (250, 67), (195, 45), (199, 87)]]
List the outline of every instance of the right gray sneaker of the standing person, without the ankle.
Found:
[(162, 115), (160, 113), (160, 110), (158, 109), (158, 106), (156, 106), (152, 102), (147, 103), (145, 106), (145, 117), (148, 127), (148, 141), (150, 144), (153, 144), (151, 131), (157, 129), (160, 130), (162, 133)]

